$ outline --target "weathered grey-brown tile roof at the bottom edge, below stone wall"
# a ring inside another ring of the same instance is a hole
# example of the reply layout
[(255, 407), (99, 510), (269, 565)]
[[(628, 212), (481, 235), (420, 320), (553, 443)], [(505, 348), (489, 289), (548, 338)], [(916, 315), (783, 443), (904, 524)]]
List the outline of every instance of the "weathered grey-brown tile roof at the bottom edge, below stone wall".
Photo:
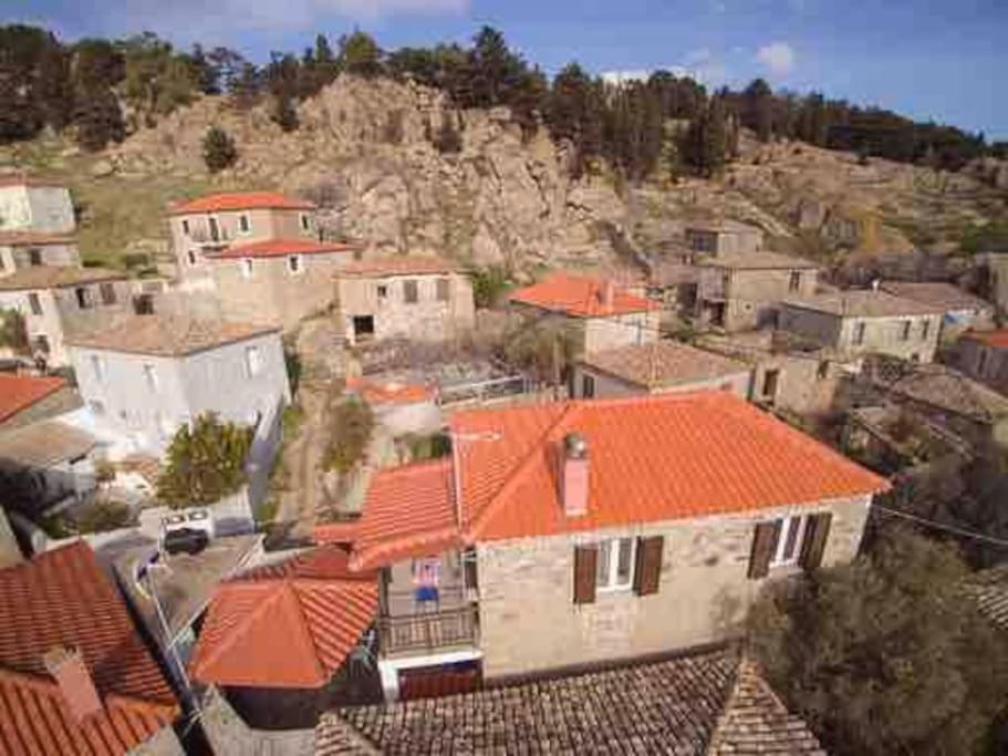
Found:
[(755, 667), (715, 651), (322, 716), (318, 756), (367, 753), (824, 752)]

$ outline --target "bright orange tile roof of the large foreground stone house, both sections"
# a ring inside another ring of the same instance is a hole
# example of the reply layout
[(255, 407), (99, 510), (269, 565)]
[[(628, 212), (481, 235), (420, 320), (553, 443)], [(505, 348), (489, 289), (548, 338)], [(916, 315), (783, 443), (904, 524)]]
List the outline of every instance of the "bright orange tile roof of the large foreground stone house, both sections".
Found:
[[(889, 484), (728, 392), (573, 401), (460, 412), (456, 527), (450, 459), (378, 472), (354, 566), (444, 546), (759, 511), (874, 494)], [(589, 511), (565, 517), (555, 454), (568, 433), (589, 445)]]

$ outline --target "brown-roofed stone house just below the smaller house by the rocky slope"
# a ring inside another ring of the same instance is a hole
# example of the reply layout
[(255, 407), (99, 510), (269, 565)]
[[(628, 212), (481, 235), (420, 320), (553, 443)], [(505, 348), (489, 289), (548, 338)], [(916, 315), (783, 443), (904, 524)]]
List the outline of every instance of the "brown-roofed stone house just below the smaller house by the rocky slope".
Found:
[(814, 262), (777, 252), (708, 257), (697, 269), (694, 317), (728, 332), (775, 324), (781, 301), (813, 294), (819, 273)]

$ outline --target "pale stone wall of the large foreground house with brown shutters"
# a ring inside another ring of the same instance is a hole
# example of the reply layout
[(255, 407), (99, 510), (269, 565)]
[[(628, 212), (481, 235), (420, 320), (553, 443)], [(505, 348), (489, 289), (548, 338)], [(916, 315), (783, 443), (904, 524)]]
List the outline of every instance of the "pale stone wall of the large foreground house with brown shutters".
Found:
[[(823, 565), (858, 552), (869, 497), (781, 507), (759, 516), (676, 520), (576, 536), (479, 543), (484, 675), (495, 677), (686, 649), (731, 634), (766, 580), (749, 580), (757, 522), (833, 514)], [(665, 536), (658, 592), (599, 592), (573, 603), (574, 546), (621, 536)], [(768, 579), (794, 568), (772, 570)]]

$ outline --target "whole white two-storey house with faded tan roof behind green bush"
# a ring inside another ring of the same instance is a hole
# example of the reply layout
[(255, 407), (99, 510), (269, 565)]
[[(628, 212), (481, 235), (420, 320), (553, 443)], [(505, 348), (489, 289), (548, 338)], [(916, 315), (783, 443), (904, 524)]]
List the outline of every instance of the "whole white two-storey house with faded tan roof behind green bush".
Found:
[(204, 413), (254, 427), (291, 398), (271, 327), (135, 315), (69, 345), (96, 424), (134, 452), (159, 456), (181, 424)]

